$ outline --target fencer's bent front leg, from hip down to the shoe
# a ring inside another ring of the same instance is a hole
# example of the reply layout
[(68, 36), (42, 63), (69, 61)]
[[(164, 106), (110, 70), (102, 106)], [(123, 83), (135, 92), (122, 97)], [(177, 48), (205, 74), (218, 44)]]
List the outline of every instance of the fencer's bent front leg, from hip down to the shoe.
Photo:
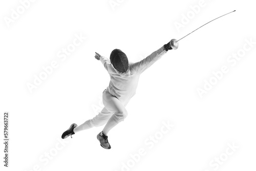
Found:
[(108, 135), (114, 126), (126, 118), (127, 111), (122, 102), (117, 97), (112, 96), (109, 91), (103, 93), (103, 104), (106, 110), (113, 114), (103, 129), (103, 133)]

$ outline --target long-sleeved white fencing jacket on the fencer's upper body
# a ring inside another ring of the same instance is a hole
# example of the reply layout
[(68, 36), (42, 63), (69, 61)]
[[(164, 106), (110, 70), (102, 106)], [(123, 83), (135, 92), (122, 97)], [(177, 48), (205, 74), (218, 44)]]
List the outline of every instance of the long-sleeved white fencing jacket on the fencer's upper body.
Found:
[(117, 71), (108, 58), (101, 56), (100, 61), (110, 75), (110, 84), (106, 89), (120, 101), (128, 102), (136, 93), (140, 74), (165, 53), (164, 47), (161, 47), (141, 61), (129, 62), (129, 69), (125, 73)]

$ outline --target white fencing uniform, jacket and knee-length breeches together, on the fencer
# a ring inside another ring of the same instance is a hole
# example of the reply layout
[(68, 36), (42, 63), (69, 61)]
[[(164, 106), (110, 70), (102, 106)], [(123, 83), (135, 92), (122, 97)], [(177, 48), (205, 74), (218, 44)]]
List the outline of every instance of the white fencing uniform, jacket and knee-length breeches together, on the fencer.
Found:
[(108, 58), (101, 56), (100, 61), (110, 75), (110, 83), (102, 95), (104, 108), (97, 116), (88, 120), (90, 127), (103, 125), (109, 119), (116, 123), (123, 121), (127, 116), (125, 106), (136, 93), (140, 74), (165, 53), (163, 46), (139, 62), (129, 62), (129, 69), (125, 73), (117, 71)]

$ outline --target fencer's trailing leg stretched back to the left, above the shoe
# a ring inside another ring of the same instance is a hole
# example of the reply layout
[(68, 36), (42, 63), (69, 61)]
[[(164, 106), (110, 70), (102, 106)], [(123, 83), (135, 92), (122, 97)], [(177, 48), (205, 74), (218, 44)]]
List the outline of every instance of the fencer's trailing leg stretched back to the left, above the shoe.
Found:
[(101, 126), (108, 122), (112, 114), (106, 110), (105, 108), (102, 109), (102, 111), (96, 115), (93, 119), (89, 119), (86, 122), (82, 123), (81, 125), (74, 128), (74, 133), (78, 133), (83, 130), (90, 129), (94, 126)]

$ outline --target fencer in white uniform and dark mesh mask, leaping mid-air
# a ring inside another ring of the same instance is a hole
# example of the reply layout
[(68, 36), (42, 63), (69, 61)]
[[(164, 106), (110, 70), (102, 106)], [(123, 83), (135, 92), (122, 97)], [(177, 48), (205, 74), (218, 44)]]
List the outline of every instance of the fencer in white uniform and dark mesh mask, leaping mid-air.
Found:
[(103, 91), (104, 108), (93, 119), (89, 119), (79, 126), (75, 123), (71, 124), (61, 138), (64, 139), (68, 136), (72, 138), (72, 135), (79, 131), (105, 124), (103, 130), (97, 135), (97, 139), (103, 148), (110, 149), (111, 146), (107, 135), (114, 126), (126, 118), (127, 111), (125, 106), (136, 93), (140, 74), (152, 66), (168, 50), (177, 48), (178, 44), (171, 44), (170, 41), (136, 63), (129, 62), (127, 56), (119, 49), (111, 52), (110, 60), (95, 52), (95, 58), (102, 62), (106, 71), (110, 74), (110, 84)]

